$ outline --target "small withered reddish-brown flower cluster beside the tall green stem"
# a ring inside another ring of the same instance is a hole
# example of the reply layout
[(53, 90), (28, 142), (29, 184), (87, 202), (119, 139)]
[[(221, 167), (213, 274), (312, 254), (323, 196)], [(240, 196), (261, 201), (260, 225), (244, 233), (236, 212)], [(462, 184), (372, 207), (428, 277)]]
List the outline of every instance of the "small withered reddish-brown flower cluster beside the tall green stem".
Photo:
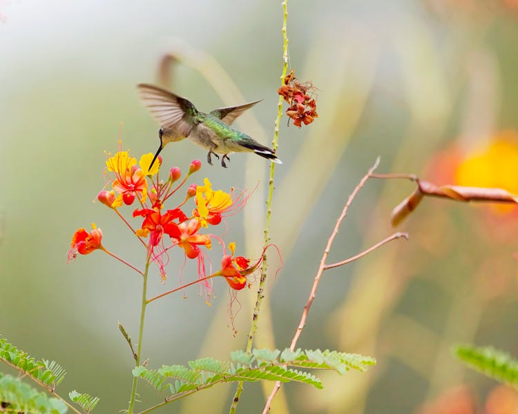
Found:
[(289, 104), (286, 115), (293, 119), (294, 126), (300, 128), (302, 123), (311, 124), (315, 118), (318, 118), (318, 114), (315, 99), (311, 97), (311, 92), (315, 87), (310, 82), (300, 83), (295, 79), (294, 72), (291, 70), (284, 79), (284, 85), (278, 88), (277, 93), (284, 97)]

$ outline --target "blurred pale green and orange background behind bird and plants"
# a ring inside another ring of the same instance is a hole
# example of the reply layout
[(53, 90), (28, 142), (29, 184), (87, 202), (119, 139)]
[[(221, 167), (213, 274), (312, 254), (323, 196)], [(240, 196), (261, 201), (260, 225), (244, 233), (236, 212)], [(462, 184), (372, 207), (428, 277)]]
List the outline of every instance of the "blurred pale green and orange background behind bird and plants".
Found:
[[(288, 7), (290, 65), (318, 88), (320, 118), (301, 130), (281, 122), (272, 242), (285, 266), (270, 278), (256, 342), (277, 348), (289, 346), (336, 217), (376, 156), (378, 172), (439, 179), (435, 155), (452, 146), (468, 154), (518, 126), (516, 2), (300, 0)], [(135, 84), (156, 82), (164, 53), (180, 59), (170, 72), (173, 90), (200, 110), (263, 99), (236, 124), (268, 144), (282, 67), (280, 1), (19, 0), (0, 2), (0, 13), (0, 333), (60, 362), (68, 370), (62, 394), (97, 395), (97, 411), (115, 413), (127, 408), (133, 366), (117, 321), (137, 336), (140, 279), (99, 252), (66, 263), (70, 237), (91, 222), (114, 253), (144, 262), (117, 217), (92, 203), (104, 185), (103, 151), (116, 150), (120, 136), (137, 157), (155, 152), (157, 124)], [(184, 171), (205, 155), (188, 141), (162, 152), (165, 166)], [(251, 257), (260, 255), (268, 171), (264, 159), (233, 155), (227, 170), (204, 164), (191, 180), (209, 177), (222, 189), (260, 181), (226, 235)], [(392, 233), (390, 212), (412, 190), (406, 181), (368, 182), (329, 262)], [(425, 200), (400, 226), (409, 242), (325, 273), (298, 345), (364, 353), (378, 365), (363, 375), (321, 373), (323, 391), (289, 384), (272, 412), (421, 413), (463, 384), (469, 404), (456, 412), (483, 410), (495, 383), (466, 373), (449, 350), (476, 342), (518, 355), (516, 220), (486, 206)], [(178, 286), (181, 262), (173, 255), (166, 286), (153, 269), (152, 293)], [(194, 271), (187, 266), (184, 280)], [(150, 366), (226, 359), (244, 346), (255, 290), (238, 293), (236, 337), (226, 284), (215, 282), (211, 306), (198, 290), (148, 308)], [(224, 413), (233, 391), (218, 386), (158, 412)], [(139, 392), (140, 408), (160, 400), (146, 384)], [(262, 393), (247, 385), (240, 412), (262, 410)]]

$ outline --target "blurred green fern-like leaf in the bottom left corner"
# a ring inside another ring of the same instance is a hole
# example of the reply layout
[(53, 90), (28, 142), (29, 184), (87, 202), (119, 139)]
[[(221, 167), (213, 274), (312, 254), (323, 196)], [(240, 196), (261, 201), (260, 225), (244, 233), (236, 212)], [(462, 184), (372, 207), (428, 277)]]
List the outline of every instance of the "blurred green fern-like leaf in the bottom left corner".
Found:
[[(65, 414), (66, 405), (57, 398), (21, 382), (19, 378), (0, 374), (0, 406), (7, 413)], [(0, 408), (0, 411), (3, 410)]]

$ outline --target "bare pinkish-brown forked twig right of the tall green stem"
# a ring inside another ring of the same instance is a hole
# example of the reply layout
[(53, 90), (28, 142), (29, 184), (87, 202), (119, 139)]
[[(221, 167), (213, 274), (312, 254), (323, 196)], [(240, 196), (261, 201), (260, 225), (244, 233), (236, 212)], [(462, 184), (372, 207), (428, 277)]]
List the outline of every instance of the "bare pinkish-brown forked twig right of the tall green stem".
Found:
[[(316, 276), (315, 276), (315, 279), (314, 279), (314, 282), (313, 282), (313, 287), (311, 288), (311, 293), (309, 293), (309, 297), (308, 297), (307, 302), (306, 302), (306, 304), (304, 306), (303, 314), (300, 317), (300, 323), (298, 324), (298, 327), (297, 327), (297, 329), (295, 331), (293, 339), (291, 339), (291, 344), (289, 346), (289, 349), (291, 351), (294, 351), (295, 346), (296, 346), (297, 341), (298, 341), (298, 338), (300, 337), (300, 334), (302, 333), (302, 331), (304, 329), (304, 326), (306, 324), (307, 315), (309, 313), (309, 309), (311, 308), (311, 304), (313, 304), (313, 301), (315, 299), (316, 288), (318, 287), (318, 282), (320, 282), (320, 277), (324, 273), (324, 270), (326, 270), (325, 261), (327, 260), (327, 256), (329, 255), (329, 251), (331, 250), (331, 246), (332, 246), (332, 244), (334, 242), (334, 238), (338, 234), (338, 228), (340, 228), (340, 224), (342, 223), (343, 219), (345, 219), (345, 216), (347, 215), (347, 210), (349, 210), (349, 206), (352, 204), (352, 201), (354, 200), (354, 198), (358, 194), (358, 191), (363, 187), (363, 185), (365, 184), (367, 179), (372, 177), (372, 173), (378, 167), (379, 161), (380, 161), (380, 159), (378, 157), (376, 159), (376, 162), (374, 163), (374, 166), (372, 166), (372, 168), (370, 168), (370, 170), (367, 172), (367, 174), (361, 179), (361, 181), (358, 183), (358, 185), (354, 188), (353, 192), (351, 193), (351, 195), (349, 195), (349, 198), (347, 199), (347, 203), (345, 203), (345, 206), (343, 207), (342, 214), (340, 214), (340, 217), (338, 217), (338, 220), (336, 220), (336, 225), (334, 226), (333, 233), (331, 233), (331, 236), (329, 237), (329, 240), (327, 241), (327, 246), (325, 246), (325, 250), (324, 250), (324, 253), (322, 255), (322, 259), (320, 259), (320, 266), (318, 266), (318, 271), (316, 273)], [(396, 233), (396, 235), (397, 234), (398, 233)], [(404, 236), (401, 234), (401, 235), (399, 235), (399, 237), (404, 237)], [(382, 244), (384, 244), (384, 243), (386, 243), (386, 242), (388, 242), (388, 241), (390, 241), (392, 239), (395, 239), (395, 238), (397, 238), (397, 237), (394, 237), (394, 235), (393, 235), (392, 237), (389, 237), (388, 239), (385, 239), (383, 242), (378, 243), (378, 245), (376, 245), (376, 247), (379, 247)], [(365, 250), (365, 252), (360, 253), (360, 255), (357, 255), (357, 256), (358, 257), (362, 257), (363, 255), (366, 255), (367, 253), (370, 253), (376, 247), (373, 246), (372, 248)], [(358, 258), (358, 257), (356, 257), (356, 258)], [(347, 260), (347, 261), (344, 261), (344, 262), (345, 263), (349, 263), (350, 261), (351, 260)], [(345, 263), (343, 263), (343, 264), (345, 264)], [(338, 264), (334, 264), (334, 265), (330, 265), (330, 266), (336, 267), (336, 266), (339, 266), (339, 265)], [(276, 384), (274, 386), (274, 389), (271, 391), (271, 394), (268, 397), (268, 400), (267, 400), (267, 402), (265, 404), (265, 408), (263, 409), (262, 414), (267, 414), (268, 413), (268, 411), (270, 409), (270, 406), (271, 406), (271, 402), (274, 400), (274, 397), (276, 396), (277, 391), (279, 391), (279, 389), (280, 389), (280, 382), (278, 381), (278, 382), (276, 382)]]

